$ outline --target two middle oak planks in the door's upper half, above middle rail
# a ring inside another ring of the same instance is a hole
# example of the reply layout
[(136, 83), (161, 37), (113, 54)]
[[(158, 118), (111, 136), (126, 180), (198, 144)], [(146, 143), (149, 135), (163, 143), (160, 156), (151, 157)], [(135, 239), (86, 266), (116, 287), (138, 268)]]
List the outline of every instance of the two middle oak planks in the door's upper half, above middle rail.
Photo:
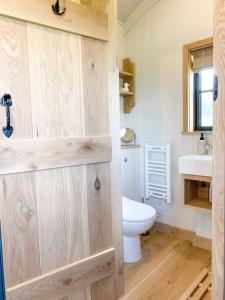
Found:
[(84, 136), (81, 37), (28, 24), (28, 41), (34, 137)]

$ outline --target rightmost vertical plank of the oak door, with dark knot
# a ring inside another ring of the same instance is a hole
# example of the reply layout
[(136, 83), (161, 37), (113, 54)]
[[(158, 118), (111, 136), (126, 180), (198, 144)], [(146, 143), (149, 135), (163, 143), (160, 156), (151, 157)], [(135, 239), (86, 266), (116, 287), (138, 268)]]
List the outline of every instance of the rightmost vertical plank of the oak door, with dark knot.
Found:
[[(82, 38), (82, 66), (84, 85), (85, 135), (109, 134), (109, 94), (107, 45)], [(104, 82), (104, 84), (103, 84)], [(112, 208), (110, 165), (87, 166), (87, 199), (90, 254), (112, 245)], [(95, 180), (101, 189), (95, 189)], [(92, 300), (115, 299), (114, 278), (107, 278), (92, 285)]]

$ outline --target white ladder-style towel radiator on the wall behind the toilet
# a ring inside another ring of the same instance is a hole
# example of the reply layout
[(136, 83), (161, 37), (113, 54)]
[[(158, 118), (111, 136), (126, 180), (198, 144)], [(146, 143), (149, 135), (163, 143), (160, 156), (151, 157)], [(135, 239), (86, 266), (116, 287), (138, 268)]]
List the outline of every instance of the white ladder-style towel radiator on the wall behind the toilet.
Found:
[(171, 203), (171, 144), (145, 144), (145, 194)]

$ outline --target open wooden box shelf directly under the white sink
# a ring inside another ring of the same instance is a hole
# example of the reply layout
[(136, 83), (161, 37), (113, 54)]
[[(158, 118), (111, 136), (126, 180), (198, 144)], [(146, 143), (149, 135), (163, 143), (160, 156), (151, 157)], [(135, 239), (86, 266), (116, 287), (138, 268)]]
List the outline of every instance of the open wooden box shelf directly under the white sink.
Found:
[(209, 177), (184, 175), (184, 205), (210, 212), (211, 180)]

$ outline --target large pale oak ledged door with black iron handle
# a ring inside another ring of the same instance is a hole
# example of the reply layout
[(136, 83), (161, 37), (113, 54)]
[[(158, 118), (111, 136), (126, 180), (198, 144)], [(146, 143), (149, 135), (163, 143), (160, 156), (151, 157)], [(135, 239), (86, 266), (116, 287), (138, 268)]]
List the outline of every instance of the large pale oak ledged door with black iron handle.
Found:
[(51, 2), (0, 0), (7, 300), (115, 299), (107, 15)]

